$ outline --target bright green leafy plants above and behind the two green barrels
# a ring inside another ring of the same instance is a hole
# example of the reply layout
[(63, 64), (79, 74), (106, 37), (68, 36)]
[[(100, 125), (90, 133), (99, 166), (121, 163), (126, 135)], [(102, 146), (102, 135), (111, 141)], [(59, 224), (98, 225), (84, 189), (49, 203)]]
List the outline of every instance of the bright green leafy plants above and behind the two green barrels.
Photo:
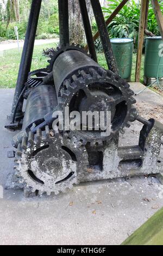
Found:
[[(111, 2), (111, 4), (108, 3), (108, 8), (103, 8), (103, 12), (108, 14), (106, 18), (108, 18), (118, 4), (121, 3), (121, 0), (113, 0)], [(160, 4), (160, 8), (163, 13), (162, 4)], [(124, 5), (120, 13), (118, 13), (115, 19), (109, 24), (108, 31), (110, 38), (133, 38), (134, 42), (136, 42), (139, 32), (139, 20), (140, 4), (136, 4), (134, 0), (131, 0), (128, 4)], [(160, 34), (151, 3), (149, 4), (148, 30), (155, 35)]]

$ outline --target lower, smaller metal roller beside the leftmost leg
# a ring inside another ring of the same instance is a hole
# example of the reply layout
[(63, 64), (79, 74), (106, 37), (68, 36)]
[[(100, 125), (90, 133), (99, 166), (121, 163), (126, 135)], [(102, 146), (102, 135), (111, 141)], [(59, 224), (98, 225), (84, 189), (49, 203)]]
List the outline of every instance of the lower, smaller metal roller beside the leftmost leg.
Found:
[(22, 130), (30, 130), (32, 125), (44, 121), (44, 115), (58, 105), (57, 95), (53, 86), (39, 86), (32, 90), (27, 99), (26, 112)]

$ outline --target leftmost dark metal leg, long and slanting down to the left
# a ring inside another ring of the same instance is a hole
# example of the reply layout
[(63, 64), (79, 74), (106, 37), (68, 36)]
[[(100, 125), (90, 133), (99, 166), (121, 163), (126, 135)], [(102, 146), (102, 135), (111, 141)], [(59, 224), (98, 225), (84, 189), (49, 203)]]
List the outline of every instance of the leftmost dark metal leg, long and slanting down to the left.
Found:
[[(23, 52), (22, 52), (22, 57), (21, 57), (21, 63), (20, 63), (19, 71), (18, 71), (18, 77), (17, 77), (14, 101), (12, 104), (11, 115), (13, 115), (13, 113), (15, 112), (15, 107), (16, 107), (18, 97), (20, 96), (20, 94), (24, 88), (24, 84), (27, 82), (28, 73), (30, 71), (37, 23), (39, 20), (39, 14), (40, 14), (40, 8), (41, 8), (41, 2), (42, 2), (42, 0), (33, 0), (32, 1), (30, 15), (29, 15), (29, 21), (28, 21), (28, 27), (27, 27), (27, 32), (26, 32), (26, 38), (24, 41)], [(22, 106), (23, 106), (23, 99), (18, 104), (17, 111), (16, 111), (16, 118), (21, 117)]]

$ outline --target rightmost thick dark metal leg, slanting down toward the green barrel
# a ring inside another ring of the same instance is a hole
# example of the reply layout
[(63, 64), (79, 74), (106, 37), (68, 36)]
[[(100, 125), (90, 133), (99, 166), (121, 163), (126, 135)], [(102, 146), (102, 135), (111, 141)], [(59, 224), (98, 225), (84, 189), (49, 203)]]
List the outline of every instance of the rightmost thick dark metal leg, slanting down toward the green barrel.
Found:
[(114, 53), (112, 51), (111, 42), (108, 34), (108, 29), (105, 24), (104, 15), (102, 12), (101, 4), (99, 0), (91, 0), (93, 13), (95, 15), (99, 35), (101, 38), (101, 42), (103, 45), (106, 62), (108, 64), (108, 68), (118, 75), (118, 68), (116, 65), (116, 60), (114, 57)]

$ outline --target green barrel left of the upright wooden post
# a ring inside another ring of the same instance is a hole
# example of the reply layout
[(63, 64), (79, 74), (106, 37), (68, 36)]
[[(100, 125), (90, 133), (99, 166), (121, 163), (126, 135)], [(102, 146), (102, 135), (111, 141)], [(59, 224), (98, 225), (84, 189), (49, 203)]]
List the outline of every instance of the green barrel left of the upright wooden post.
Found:
[(120, 72), (120, 76), (129, 82), (131, 78), (133, 62), (133, 39), (111, 39), (111, 45), (118, 66), (118, 70)]

